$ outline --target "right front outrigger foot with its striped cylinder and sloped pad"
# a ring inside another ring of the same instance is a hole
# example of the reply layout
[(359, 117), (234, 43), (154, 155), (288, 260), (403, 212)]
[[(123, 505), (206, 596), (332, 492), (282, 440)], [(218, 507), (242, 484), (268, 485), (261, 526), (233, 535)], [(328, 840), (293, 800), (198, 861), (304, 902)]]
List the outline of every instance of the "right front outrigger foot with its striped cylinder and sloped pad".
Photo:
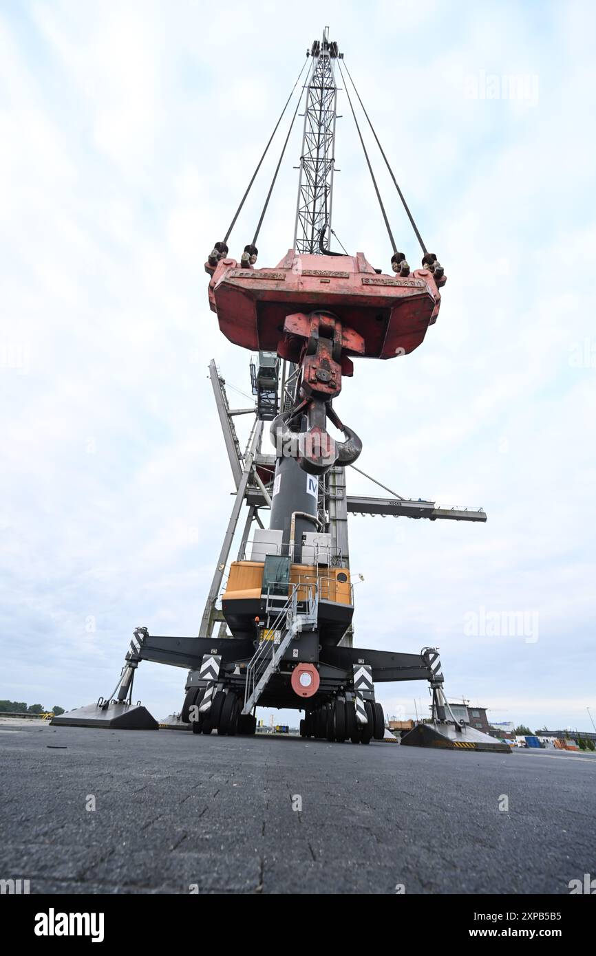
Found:
[(440, 750), (490, 750), (511, 753), (509, 744), (505, 744), (482, 730), (476, 730), (464, 721), (453, 716), (453, 710), (445, 696), (445, 679), (441, 672), (441, 662), (435, 647), (424, 647), (422, 658), (430, 669), (430, 691), (432, 704), (431, 719), (428, 723), (417, 724), (402, 737), (406, 747), (431, 747)]

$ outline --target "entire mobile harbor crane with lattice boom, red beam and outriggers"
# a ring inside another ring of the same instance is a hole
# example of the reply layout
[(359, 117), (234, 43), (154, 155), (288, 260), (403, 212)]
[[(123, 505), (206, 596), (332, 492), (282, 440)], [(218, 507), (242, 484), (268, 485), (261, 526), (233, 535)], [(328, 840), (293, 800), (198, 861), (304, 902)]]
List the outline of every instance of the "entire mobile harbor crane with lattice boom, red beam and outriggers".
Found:
[[(307, 80), (300, 86), (307, 65)], [(327, 236), (335, 235), (331, 216), (336, 69), (385, 221), (392, 248), (390, 274), (373, 268), (362, 252), (351, 255), (327, 248)], [(397, 250), (344, 70), (422, 248), (421, 269), (410, 271), (405, 254)], [(232, 228), (297, 87), (298, 102), (253, 241), (236, 261), (228, 247)], [(273, 269), (255, 268), (259, 230), (303, 96), (294, 244)], [(474, 522), (486, 521), (486, 514), (440, 509), (434, 502), (404, 499), (391, 491), (386, 499), (346, 492), (345, 469), (355, 467), (362, 442), (342, 423), (333, 404), (342, 390), (342, 377), (354, 374), (353, 359), (394, 359), (417, 348), (436, 321), (440, 289), (447, 279), (422, 241), (328, 28), (307, 51), (232, 224), (225, 238), (215, 243), (205, 268), (210, 276), (210, 309), (219, 328), (234, 344), (257, 354), (258, 360), (251, 363), (254, 423), (244, 453), (233, 418), (247, 410), (230, 408), (225, 381), (215, 362), (210, 363), (236, 493), (199, 636), (154, 637), (138, 627), (114, 693), (55, 717), (53, 723), (254, 734), (259, 705), (303, 710), (303, 737), (368, 744), (385, 735), (375, 684), (428, 680), (431, 721), (409, 731), (402, 744), (509, 750), (455, 720), (444, 694), (436, 648), (405, 654), (352, 646), (348, 512)], [(327, 421), (342, 432), (342, 442), (329, 434)], [(275, 454), (261, 447), (266, 423)], [(245, 504), (248, 515), (240, 551), (230, 563)], [(269, 528), (261, 520), (266, 510)], [(249, 540), (254, 522), (258, 527)], [(182, 710), (161, 725), (140, 702), (132, 703), (133, 679), (141, 661), (188, 668)]]

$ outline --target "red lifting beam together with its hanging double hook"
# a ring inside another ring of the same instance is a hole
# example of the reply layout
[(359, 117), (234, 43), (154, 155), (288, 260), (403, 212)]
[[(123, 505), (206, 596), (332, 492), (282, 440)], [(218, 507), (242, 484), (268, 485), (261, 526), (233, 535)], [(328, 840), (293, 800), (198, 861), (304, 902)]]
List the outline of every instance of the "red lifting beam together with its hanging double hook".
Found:
[[(235, 345), (276, 352), (300, 367), (301, 401), (292, 413), (279, 416), (272, 430), (283, 437), (288, 418), (306, 415), (306, 436), (320, 452), (299, 459), (306, 471), (320, 473), (336, 462), (355, 461), (360, 439), (331, 408), (342, 390), (342, 375), (354, 374), (354, 356), (393, 359), (417, 348), (436, 321), (446, 276), (435, 277), (430, 269), (383, 275), (362, 252), (327, 256), (288, 250), (275, 269), (254, 269), (223, 257), (205, 268), (211, 274), (210, 308), (223, 334)], [(327, 416), (346, 434), (345, 443), (331, 442)]]

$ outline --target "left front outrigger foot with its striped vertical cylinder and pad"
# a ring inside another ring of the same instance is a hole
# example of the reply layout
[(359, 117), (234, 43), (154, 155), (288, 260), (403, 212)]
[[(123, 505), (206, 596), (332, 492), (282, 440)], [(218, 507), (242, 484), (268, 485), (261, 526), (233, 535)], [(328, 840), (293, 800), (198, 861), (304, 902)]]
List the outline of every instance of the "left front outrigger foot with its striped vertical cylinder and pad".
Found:
[(50, 721), (56, 727), (97, 727), (121, 730), (157, 730), (159, 724), (141, 701), (132, 703), (132, 684), (135, 671), (141, 662), (141, 648), (148, 632), (138, 627), (130, 641), (121, 676), (114, 693), (100, 697), (97, 704), (77, 707), (55, 716)]

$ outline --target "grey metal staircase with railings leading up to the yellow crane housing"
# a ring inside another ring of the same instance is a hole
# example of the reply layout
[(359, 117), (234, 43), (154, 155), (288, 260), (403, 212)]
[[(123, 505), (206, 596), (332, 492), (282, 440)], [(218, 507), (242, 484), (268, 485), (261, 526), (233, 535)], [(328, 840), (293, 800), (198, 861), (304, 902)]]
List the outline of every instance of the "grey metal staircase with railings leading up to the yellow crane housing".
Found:
[[(259, 642), (254, 657), (247, 667), (243, 714), (250, 714), (258, 703), (271, 677), (278, 670), (290, 642), (294, 641), (301, 631), (314, 630), (318, 626), (318, 583), (298, 581), (296, 584), (291, 584), (290, 595), (285, 598), (283, 605), (279, 608), (281, 599), (268, 591), (265, 606), (267, 620), (269, 621), (277, 611), (276, 618), (269, 626), (269, 633), (273, 635), (273, 639), (264, 639)], [(279, 637), (276, 637), (277, 633)]]

